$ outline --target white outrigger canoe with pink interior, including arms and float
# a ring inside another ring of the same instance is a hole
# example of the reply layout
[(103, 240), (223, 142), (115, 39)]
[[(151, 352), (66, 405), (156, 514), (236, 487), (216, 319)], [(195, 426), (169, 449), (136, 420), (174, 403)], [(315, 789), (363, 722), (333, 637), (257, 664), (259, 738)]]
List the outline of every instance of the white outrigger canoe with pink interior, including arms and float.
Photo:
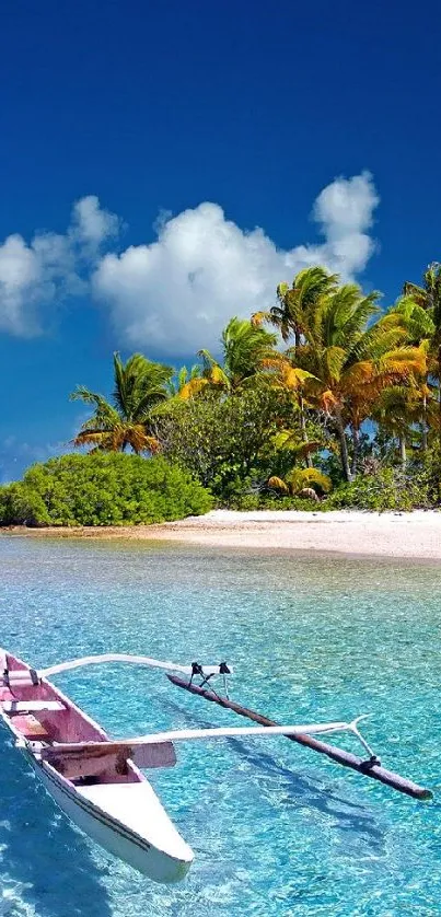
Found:
[[(178, 673), (167, 675), (174, 685), (233, 710), (257, 726), (172, 730), (113, 740), (48, 678), (83, 665), (115, 662)], [(176, 742), (280, 735), (415, 799), (432, 797), (430, 790), (382, 767), (360, 733), (362, 717), (351, 722), (281, 726), (230, 700), (227, 678), (231, 670), (224, 662), (177, 665), (149, 657), (107, 653), (36, 671), (0, 650), (0, 671), (1, 719), (46, 790), (93, 840), (158, 882), (183, 879), (194, 854), (139, 768), (172, 767), (176, 764)], [(223, 678), (224, 696), (213, 688), (212, 680), (219, 675)], [(314, 738), (338, 732), (355, 735), (363, 748), (363, 757)]]

